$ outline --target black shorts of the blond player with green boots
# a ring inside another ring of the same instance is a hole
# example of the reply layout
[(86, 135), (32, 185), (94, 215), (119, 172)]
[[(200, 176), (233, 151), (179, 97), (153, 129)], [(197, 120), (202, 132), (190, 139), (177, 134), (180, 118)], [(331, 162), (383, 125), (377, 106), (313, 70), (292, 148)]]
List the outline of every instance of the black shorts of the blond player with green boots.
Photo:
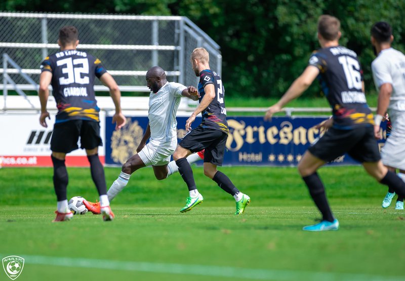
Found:
[(227, 138), (225, 132), (198, 126), (185, 135), (179, 145), (191, 152), (205, 149), (204, 163), (222, 166)]

